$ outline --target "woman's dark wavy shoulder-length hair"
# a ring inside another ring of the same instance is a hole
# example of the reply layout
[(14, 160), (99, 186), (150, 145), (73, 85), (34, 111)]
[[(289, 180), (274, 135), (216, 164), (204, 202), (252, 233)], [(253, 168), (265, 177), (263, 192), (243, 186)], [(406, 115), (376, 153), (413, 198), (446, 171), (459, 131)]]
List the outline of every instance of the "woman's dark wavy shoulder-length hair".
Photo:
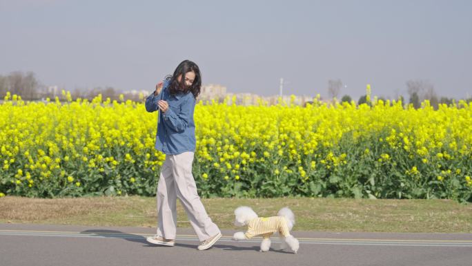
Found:
[[(193, 80), (192, 86), (185, 86), (185, 75), (188, 72), (195, 73), (195, 79)], [(177, 80), (177, 77), (181, 75), (180, 82)], [(200, 94), (201, 88), (201, 74), (200, 69), (197, 64), (190, 60), (182, 61), (177, 68), (175, 68), (174, 74), (172, 76), (167, 76), (166, 79), (170, 79), (169, 84), (169, 93), (171, 95), (176, 95), (178, 93), (192, 93), (193, 97), (197, 99), (197, 96)]]

